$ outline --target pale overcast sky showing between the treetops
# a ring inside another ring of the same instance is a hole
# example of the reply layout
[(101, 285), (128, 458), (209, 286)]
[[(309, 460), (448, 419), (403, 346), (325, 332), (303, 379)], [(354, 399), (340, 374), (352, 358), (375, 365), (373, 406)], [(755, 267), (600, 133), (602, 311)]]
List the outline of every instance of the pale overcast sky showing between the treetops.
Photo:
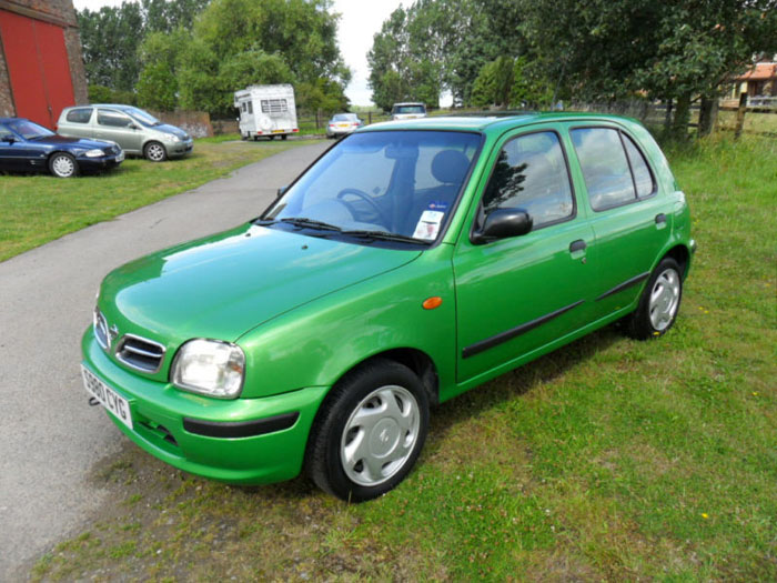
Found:
[[(77, 10), (95, 10), (103, 6), (120, 6), (121, 2), (122, 0), (73, 0)], [(337, 30), (340, 51), (345, 64), (353, 71), (345, 94), (354, 105), (369, 105), (371, 91), (367, 87), (367, 51), (383, 21), (403, 4), (403, 0), (334, 0), (333, 3), (335, 12), (341, 14)], [(412, 3), (412, 0), (404, 0), (404, 6)]]

